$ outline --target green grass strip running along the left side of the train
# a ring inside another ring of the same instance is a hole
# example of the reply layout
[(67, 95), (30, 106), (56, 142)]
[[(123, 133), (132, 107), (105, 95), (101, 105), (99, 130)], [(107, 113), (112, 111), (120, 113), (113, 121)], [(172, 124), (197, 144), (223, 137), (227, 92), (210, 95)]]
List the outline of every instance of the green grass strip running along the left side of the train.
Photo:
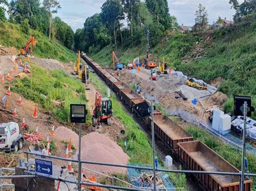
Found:
[[(98, 78), (92, 73), (90, 73), (90, 78), (92, 83), (99, 88), (100, 93), (106, 96), (107, 88), (105, 84), (98, 80)], [(139, 129), (138, 124), (129, 114), (127, 114), (122, 103), (120, 103), (117, 100), (117, 97), (112, 93), (111, 101), (113, 107), (113, 115), (120, 119), (126, 128), (125, 136), (127, 149), (125, 151), (130, 157), (129, 162), (132, 164), (152, 164), (152, 147), (150, 145), (149, 139), (144, 134), (144, 132)], [(124, 147), (124, 141), (119, 140), (119, 145)], [(168, 174), (176, 187), (184, 187), (187, 190), (185, 174)]]

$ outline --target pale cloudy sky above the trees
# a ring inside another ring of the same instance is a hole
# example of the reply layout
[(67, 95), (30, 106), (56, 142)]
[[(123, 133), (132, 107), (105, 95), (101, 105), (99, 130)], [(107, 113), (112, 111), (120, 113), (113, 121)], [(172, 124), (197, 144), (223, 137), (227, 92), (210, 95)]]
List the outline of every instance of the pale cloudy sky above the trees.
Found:
[[(194, 13), (199, 3), (208, 11), (209, 24), (221, 18), (232, 19), (234, 10), (230, 9), (229, 0), (168, 0), (170, 14), (174, 15), (178, 23), (186, 26), (194, 24)], [(240, 2), (243, 0), (239, 0)], [(74, 31), (82, 28), (87, 17), (100, 12), (100, 7), (105, 0), (59, 0), (62, 9), (55, 16), (68, 23)]]

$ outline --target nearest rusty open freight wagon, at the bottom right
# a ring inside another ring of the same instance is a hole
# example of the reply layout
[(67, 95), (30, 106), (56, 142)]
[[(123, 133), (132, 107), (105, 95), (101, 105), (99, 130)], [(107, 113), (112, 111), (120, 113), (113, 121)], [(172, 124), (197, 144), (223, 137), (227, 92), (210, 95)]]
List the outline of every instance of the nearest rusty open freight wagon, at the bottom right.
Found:
[[(181, 163), (192, 171), (239, 173), (237, 168), (199, 140), (178, 143), (178, 157)], [(196, 176), (200, 185), (207, 190), (239, 190), (239, 176), (215, 174), (194, 174), (194, 176)], [(247, 179), (245, 181), (245, 191), (251, 190), (251, 187), (252, 181)]]

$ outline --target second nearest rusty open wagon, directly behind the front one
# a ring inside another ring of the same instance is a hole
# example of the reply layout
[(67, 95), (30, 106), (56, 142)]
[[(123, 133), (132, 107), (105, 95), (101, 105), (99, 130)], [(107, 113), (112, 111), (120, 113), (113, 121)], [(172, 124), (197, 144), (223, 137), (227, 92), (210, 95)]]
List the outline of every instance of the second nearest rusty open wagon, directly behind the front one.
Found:
[[(151, 124), (151, 121), (152, 119), (149, 117), (149, 124)], [(165, 115), (155, 115), (153, 121), (154, 133), (157, 138), (173, 153), (178, 149), (178, 143), (193, 140), (193, 137), (189, 133)]]

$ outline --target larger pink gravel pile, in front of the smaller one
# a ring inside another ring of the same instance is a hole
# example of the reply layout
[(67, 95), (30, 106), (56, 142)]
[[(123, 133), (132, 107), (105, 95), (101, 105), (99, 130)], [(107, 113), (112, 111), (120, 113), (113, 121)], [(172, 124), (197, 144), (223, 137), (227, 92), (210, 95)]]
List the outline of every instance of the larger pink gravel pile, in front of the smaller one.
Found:
[[(129, 156), (111, 139), (92, 132), (82, 138), (82, 160), (127, 165)], [(83, 164), (83, 167), (102, 173), (126, 173), (126, 168)]]

